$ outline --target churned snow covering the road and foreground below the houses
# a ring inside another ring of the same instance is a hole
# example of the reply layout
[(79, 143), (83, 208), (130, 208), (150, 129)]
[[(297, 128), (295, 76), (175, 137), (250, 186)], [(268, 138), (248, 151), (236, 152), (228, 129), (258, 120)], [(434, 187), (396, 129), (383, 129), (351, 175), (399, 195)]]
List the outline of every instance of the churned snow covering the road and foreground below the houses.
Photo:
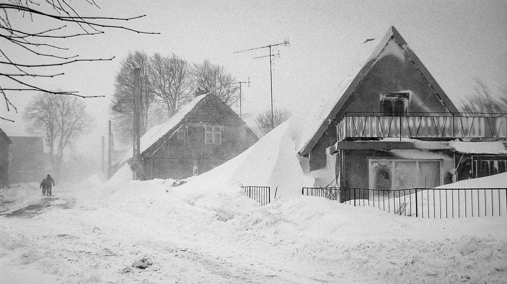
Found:
[[(504, 217), (417, 219), (309, 196), (260, 206), (237, 182), (209, 176), (179, 187), (96, 180), (55, 187), (60, 201), (74, 200), (70, 208), (0, 217), (0, 282), (507, 279)], [(25, 185), (10, 190), (35, 194)], [(152, 265), (132, 267), (143, 258)]]

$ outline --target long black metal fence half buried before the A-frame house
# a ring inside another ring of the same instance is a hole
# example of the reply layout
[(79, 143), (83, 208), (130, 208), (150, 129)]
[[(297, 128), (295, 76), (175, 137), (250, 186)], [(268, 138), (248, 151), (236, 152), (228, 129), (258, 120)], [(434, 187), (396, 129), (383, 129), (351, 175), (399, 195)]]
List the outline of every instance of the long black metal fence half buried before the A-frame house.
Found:
[(507, 188), (303, 188), (303, 195), (325, 197), (354, 206), (372, 206), (402, 216), (462, 218), (507, 216)]

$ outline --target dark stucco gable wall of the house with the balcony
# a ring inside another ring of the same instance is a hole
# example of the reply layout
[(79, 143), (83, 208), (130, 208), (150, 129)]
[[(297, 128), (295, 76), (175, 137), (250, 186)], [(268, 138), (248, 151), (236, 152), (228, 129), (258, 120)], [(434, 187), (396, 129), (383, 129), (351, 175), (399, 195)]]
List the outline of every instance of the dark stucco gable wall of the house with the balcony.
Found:
[[(337, 121), (346, 112), (379, 112), (380, 93), (396, 92), (409, 93), (409, 112), (448, 112), (411, 59), (396, 41), (391, 39), (334, 120)], [(310, 152), (309, 164), (312, 172), (335, 167), (327, 163), (328, 158), (325, 154), (325, 149), (335, 143), (336, 125), (331, 123)], [(355, 158), (346, 160), (349, 163), (346, 169), (350, 167), (357, 172), (368, 172), (365, 168), (367, 163), (359, 162)], [(368, 187), (368, 182), (361, 180), (355, 181), (354, 184), (358, 187)]]

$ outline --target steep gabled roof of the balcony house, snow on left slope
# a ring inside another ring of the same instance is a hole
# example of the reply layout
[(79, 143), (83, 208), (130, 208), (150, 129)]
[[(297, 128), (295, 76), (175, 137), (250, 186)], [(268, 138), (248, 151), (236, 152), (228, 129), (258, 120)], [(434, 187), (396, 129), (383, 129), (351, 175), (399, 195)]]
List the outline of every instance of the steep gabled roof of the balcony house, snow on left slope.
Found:
[(304, 133), (302, 134), (303, 136), (300, 137), (297, 149), (299, 155), (303, 156), (310, 153), (324, 131), (329, 127), (331, 120), (333, 120), (340, 112), (345, 102), (352, 95), (363, 78), (368, 74), (370, 68), (373, 66), (376, 59), (382, 54), (385, 46), (391, 39), (395, 40), (405, 54), (411, 59), (412, 64), (414, 64), (415, 68), (419, 70), (428, 86), (433, 90), (433, 93), (440, 99), (449, 112), (459, 112), (454, 103), (452, 103), (449, 97), (447, 97), (444, 90), (442, 90), (437, 81), (433, 79), (426, 67), (407, 45), (407, 42), (402, 38), (400, 33), (393, 26), (390, 26), (384, 37), (380, 40), (380, 42), (378, 42), (375, 49), (373, 49), (373, 51), (370, 50), (371, 53), (369, 53), (370, 55), (367, 59), (361, 62), (358, 72), (354, 73), (351, 77), (347, 77), (346, 80), (340, 84), (339, 88), (333, 91), (328, 98), (322, 100), (319, 108), (320, 112), (313, 119), (310, 119), (306, 130), (304, 130)]

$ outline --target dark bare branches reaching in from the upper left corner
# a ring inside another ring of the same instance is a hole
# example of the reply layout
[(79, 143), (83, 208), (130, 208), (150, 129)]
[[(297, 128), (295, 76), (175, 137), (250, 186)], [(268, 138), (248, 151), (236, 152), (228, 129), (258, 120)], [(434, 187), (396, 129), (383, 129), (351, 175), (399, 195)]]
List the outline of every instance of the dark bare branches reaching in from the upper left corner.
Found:
[[(83, 0), (82, 3), (99, 9), (94, 0)], [(71, 53), (62, 45), (66, 39), (101, 34), (110, 28), (153, 33), (121, 25), (121, 22), (145, 15), (125, 18), (84, 16), (79, 10), (71, 6), (69, 0), (6, 0), (0, 3), (0, 39), (3, 39), (0, 45), (0, 78), (5, 79), (0, 82), (0, 95), (5, 100), (7, 111), (13, 109), (17, 112), (8, 97), (9, 92), (15, 91), (97, 97), (81, 95), (74, 90), (51, 91), (33, 83), (33, 79), (63, 75), (54, 71), (63, 65), (114, 58), (80, 58), (79, 54)]]

